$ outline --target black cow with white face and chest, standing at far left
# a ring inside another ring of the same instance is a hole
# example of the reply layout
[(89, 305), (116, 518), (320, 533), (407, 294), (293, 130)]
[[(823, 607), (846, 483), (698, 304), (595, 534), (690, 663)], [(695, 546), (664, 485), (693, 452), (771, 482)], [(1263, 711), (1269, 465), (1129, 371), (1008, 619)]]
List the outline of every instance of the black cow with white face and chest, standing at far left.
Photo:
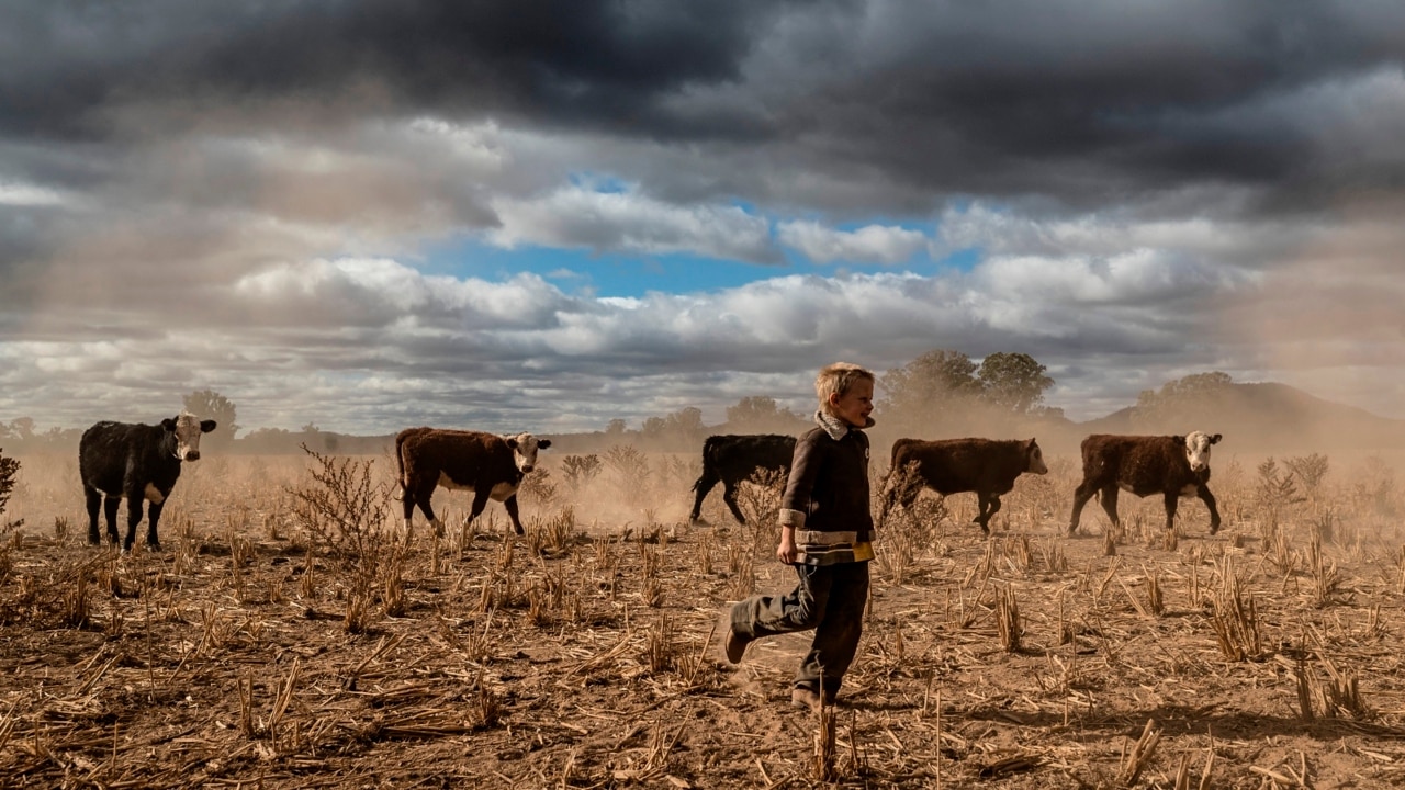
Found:
[[(156, 524), (166, 498), (176, 488), (181, 461), (200, 460), (200, 436), (215, 430), (215, 420), (200, 420), (190, 412), (160, 425), (94, 423), (79, 441), (79, 475), (89, 510), (89, 543), (97, 545), (97, 510), (107, 516), (107, 537), (117, 545), (117, 505), (126, 499), (126, 540), (122, 551), (136, 541), (142, 522), (142, 500), (150, 502), (146, 548), (160, 551)], [(104, 499), (105, 496), (105, 499)]]

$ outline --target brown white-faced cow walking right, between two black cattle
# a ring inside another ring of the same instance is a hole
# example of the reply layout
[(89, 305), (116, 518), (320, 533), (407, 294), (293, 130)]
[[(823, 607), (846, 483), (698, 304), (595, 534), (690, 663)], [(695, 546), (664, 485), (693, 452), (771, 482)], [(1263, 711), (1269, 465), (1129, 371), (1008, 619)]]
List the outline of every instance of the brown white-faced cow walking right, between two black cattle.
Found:
[(437, 427), (402, 430), (395, 437), (395, 458), (400, 468), (400, 498), (405, 500), (405, 534), (410, 534), (416, 505), (434, 527), (434, 534), (444, 534), (444, 522), (430, 506), (434, 489), (441, 485), (473, 492), (468, 522), (476, 519), (492, 498), (503, 503), (513, 529), (523, 534), (517, 516), (517, 486), (537, 467), (537, 451), (548, 447), (549, 439), (537, 439), (530, 433), (497, 436)]

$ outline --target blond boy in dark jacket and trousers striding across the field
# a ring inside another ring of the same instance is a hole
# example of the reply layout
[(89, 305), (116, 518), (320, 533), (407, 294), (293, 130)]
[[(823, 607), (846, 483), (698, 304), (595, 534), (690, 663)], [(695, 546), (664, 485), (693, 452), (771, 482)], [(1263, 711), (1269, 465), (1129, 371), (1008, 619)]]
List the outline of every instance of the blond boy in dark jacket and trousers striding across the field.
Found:
[(816, 427), (795, 443), (776, 557), (795, 568), (790, 595), (754, 595), (731, 609), (724, 651), (732, 663), (760, 637), (815, 630), (795, 673), (791, 704), (835, 701), (858, 649), (868, 600), (874, 522), (868, 506), (868, 436), (874, 374), (849, 363), (815, 378)]

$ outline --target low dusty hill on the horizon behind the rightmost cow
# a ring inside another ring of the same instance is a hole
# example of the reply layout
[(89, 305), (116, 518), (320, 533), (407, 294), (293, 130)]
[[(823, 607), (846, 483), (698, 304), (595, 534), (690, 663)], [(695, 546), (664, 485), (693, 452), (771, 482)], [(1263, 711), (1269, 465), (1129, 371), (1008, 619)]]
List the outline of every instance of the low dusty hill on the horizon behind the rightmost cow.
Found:
[(1222, 433), (1243, 453), (1328, 453), (1405, 448), (1405, 420), (1324, 401), (1287, 384), (1228, 384), (1148, 419), (1135, 406), (1076, 423), (1087, 433)]

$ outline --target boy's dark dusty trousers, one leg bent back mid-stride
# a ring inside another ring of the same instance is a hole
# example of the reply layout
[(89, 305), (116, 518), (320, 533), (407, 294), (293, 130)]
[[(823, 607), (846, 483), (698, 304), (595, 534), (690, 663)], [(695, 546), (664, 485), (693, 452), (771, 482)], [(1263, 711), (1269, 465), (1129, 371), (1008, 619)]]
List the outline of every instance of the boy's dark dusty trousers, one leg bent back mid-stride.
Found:
[(753, 595), (732, 606), (732, 630), (759, 638), (815, 628), (809, 654), (795, 672), (795, 686), (833, 696), (858, 649), (868, 603), (868, 562), (794, 568), (799, 583), (788, 595)]

